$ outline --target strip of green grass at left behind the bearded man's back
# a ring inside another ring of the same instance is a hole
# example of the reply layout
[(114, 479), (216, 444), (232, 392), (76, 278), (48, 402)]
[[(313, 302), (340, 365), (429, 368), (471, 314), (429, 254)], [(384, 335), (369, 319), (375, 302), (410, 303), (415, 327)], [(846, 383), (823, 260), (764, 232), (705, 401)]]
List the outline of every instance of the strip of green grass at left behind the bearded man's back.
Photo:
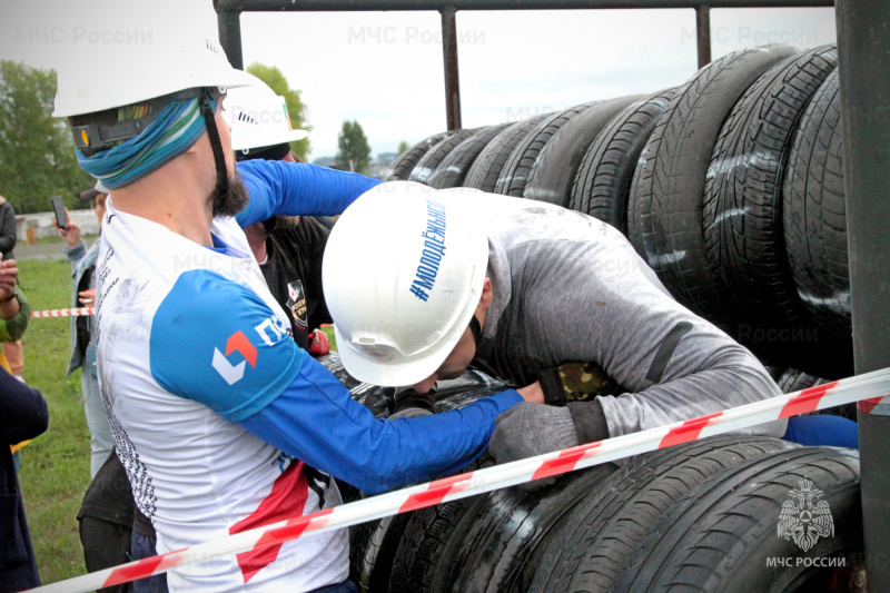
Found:
[[(67, 260), (18, 263), (22, 289), (34, 310), (70, 306)], [(65, 376), (70, 319), (31, 319), (22, 338), (24, 379), (49, 405), (49, 429), (21, 452), (28, 526), (43, 584), (87, 572), (77, 513), (90, 482), (90, 434), (80, 402), (80, 370)]]

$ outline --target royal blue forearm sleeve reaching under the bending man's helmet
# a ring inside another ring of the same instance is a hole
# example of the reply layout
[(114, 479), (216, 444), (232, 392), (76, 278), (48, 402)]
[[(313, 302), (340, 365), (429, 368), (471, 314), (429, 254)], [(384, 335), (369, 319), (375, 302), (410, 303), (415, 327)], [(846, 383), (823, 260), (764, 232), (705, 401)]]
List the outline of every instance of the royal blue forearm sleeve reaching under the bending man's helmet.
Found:
[(279, 397), (238, 422), (265, 442), (368, 493), (465, 467), (485, 451), (513, 389), (422, 418), (377, 419), (322, 365), (308, 360)]

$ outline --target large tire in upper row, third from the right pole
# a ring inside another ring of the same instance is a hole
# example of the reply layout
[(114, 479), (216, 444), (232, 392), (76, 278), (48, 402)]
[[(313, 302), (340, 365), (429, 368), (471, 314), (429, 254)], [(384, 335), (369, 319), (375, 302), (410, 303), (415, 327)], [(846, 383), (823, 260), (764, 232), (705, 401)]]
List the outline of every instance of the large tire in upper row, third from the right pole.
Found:
[(731, 324), (702, 236), (702, 195), (723, 120), (735, 101), (791, 46), (734, 51), (696, 72), (655, 123), (634, 172), (630, 238), (676, 299), (719, 326)]

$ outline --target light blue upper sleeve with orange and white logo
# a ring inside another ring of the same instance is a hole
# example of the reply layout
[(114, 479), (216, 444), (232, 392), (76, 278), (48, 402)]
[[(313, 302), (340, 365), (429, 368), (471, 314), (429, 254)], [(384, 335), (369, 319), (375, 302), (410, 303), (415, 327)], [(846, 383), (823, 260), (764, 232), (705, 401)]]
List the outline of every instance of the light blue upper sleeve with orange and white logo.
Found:
[(206, 269), (181, 274), (151, 322), (149, 368), (158, 385), (230, 422), (274, 402), (307, 357), (257, 294)]

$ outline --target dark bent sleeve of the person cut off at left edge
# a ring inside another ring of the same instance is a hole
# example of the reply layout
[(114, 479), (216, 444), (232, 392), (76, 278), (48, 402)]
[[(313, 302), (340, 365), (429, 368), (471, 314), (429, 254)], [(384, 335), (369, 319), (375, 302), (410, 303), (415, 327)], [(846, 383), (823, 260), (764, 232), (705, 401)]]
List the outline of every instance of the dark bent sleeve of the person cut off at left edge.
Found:
[(43, 434), (49, 426), (47, 401), (0, 368), (0, 437), (14, 445)]

